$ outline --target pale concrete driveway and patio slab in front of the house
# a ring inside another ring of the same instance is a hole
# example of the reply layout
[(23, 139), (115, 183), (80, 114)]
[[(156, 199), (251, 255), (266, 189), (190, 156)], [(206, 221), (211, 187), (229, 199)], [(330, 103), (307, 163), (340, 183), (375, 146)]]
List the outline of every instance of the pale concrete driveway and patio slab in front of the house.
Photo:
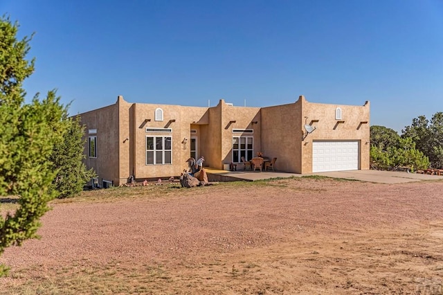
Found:
[(350, 170), (350, 171), (334, 171), (334, 172), (317, 172), (310, 174), (295, 174), (273, 171), (226, 171), (216, 170), (214, 168), (206, 168), (210, 181), (255, 181), (260, 179), (271, 179), (278, 177), (303, 177), (308, 175), (320, 175), (325, 177), (356, 179), (360, 181), (377, 182), (381, 184), (401, 184), (413, 181), (424, 180), (443, 180), (443, 176), (439, 175), (423, 175), (407, 172), (392, 172), (379, 170)]

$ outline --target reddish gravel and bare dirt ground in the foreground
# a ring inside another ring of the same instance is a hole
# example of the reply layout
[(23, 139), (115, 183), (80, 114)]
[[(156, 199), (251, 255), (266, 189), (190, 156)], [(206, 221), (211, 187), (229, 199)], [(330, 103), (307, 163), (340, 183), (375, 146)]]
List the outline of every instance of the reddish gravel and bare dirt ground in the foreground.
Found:
[(443, 181), (120, 188), (42, 221), (0, 294), (443, 293)]

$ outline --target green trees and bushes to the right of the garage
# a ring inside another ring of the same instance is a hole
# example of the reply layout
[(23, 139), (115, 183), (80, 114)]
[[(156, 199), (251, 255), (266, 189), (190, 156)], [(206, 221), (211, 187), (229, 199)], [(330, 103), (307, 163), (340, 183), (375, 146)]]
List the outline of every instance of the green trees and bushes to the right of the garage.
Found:
[(443, 112), (413, 118), (401, 130), (383, 126), (370, 127), (370, 164), (380, 170), (408, 168), (412, 172), (427, 168), (443, 168)]

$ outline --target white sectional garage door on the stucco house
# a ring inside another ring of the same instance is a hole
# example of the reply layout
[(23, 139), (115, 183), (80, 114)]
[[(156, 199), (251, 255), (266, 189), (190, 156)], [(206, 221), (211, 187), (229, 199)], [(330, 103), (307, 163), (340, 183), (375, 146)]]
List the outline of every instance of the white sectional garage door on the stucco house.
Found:
[(312, 172), (358, 170), (359, 141), (314, 141)]

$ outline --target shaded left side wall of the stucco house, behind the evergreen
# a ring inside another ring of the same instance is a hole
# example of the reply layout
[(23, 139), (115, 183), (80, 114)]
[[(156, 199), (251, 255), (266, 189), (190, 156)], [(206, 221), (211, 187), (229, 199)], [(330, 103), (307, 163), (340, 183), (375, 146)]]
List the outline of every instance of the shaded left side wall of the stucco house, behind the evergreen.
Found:
[[(103, 179), (114, 181), (114, 184), (118, 184), (118, 106), (110, 105), (109, 107), (89, 111), (81, 114), (80, 118), (82, 124), (86, 125), (85, 165), (96, 171), (100, 186)], [(89, 129), (97, 129), (97, 133), (89, 134)], [(89, 157), (89, 136), (97, 136), (97, 158)]]

